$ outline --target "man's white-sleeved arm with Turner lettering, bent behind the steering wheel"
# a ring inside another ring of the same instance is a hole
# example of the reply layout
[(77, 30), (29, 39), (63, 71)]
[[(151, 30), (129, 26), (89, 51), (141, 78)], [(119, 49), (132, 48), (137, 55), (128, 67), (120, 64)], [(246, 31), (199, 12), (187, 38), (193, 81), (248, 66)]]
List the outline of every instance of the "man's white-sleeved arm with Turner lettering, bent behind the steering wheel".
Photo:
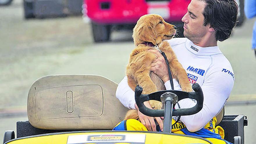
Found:
[[(203, 108), (194, 115), (181, 116), (180, 120), (191, 132), (203, 128), (214, 116), (223, 108), (234, 85), (234, 80), (230, 74), (218, 70), (205, 78), (201, 86), (204, 94)], [(191, 99), (179, 101), (181, 108), (189, 108), (195, 105)]]

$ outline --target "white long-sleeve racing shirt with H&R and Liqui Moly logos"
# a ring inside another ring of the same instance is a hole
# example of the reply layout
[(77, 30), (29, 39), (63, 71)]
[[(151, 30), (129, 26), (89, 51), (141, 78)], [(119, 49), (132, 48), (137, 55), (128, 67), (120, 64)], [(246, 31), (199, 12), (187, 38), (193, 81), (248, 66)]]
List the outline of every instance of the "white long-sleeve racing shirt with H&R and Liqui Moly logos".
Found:
[[(234, 85), (234, 72), (227, 58), (216, 47), (199, 47), (187, 38), (168, 40), (178, 61), (187, 72), (191, 85), (198, 83), (204, 94), (203, 108), (194, 115), (181, 116), (180, 120), (189, 131), (198, 131), (204, 127), (223, 108)], [(181, 90), (173, 79), (174, 89)], [(165, 83), (170, 90), (170, 81)], [(134, 91), (128, 86), (127, 77), (119, 83), (116, 97), (129, 109), (135, 109)], [(191, 99), (179, 101), (181, 108), (193, 107)], [(176, 105), (177, 106), (177, 105)]]

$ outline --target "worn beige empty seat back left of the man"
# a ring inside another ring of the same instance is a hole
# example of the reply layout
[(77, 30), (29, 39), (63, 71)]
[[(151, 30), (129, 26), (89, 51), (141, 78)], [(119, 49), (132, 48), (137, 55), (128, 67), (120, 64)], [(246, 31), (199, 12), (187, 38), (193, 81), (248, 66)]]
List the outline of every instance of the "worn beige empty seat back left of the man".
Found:
[(38, 129), (111, 130), (128, 110), (115, 97), (117, 86), (98, 75), (42, 77), (29, 90), (29, 122)]

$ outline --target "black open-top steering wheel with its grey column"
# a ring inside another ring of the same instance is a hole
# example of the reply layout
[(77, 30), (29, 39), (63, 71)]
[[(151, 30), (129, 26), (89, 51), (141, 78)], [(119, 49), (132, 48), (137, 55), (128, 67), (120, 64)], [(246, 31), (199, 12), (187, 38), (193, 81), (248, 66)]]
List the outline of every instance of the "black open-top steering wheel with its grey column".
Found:
[[(171, 131), (171, 118), (178, 115), (193, 115), (198, 113), (203, 107), (204, 95), (198, 83), (192, 85), (194, 92), (184, 92), (180, 90), (161, 90), (151, 94), (142, 94), (143, 88), (136, 86), (135, 88), (135, 101), (141, 113), (151, 117), (164, 116), (164, 132)], [(173, 104), (179, 100), (191, 98), (197, 101), (196, 105), (191, 108), (173, 109)], [(164, 109), (149, 109), (143, 102), (149, 100), (157, 100), (163, 102)]]

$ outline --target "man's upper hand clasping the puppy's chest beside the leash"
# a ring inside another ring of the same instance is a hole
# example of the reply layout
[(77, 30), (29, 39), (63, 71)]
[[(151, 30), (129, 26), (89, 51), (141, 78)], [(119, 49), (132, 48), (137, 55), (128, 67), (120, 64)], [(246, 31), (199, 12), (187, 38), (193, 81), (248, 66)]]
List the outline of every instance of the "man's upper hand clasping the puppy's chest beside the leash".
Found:
[(162, 54), (155, 49), (148, 50), (157, 56), (157, 59), (151, 64), (151, 71), (157, 74), (165, 83), (169, 80), (168, 67)]

